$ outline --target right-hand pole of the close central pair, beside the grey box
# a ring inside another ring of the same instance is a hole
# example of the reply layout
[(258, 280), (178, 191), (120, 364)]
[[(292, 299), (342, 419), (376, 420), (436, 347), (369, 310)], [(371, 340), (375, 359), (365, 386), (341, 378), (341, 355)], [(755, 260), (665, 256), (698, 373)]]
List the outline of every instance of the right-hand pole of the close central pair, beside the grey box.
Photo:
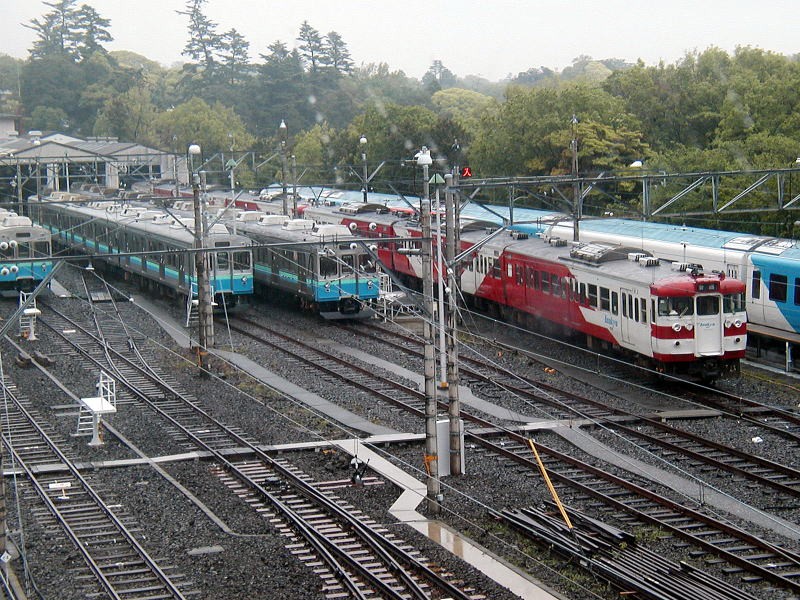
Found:
[[(458, 267), (452, 262), (458, 247), (458, 209), (455, 193), (452, 190), (453, 176), (447, 174), (445, 181), (445, 215), (447, 248), (445, 264), (447, 269), (447, 317), (449, 335), (447, 337), (447, 415), (450, 421), (450, 474), (461, 475), (461, 462), (464, 449), (461, 447), (461, 404), (458, 398)], [(444, 299), (442, 299), (444, 301)]]

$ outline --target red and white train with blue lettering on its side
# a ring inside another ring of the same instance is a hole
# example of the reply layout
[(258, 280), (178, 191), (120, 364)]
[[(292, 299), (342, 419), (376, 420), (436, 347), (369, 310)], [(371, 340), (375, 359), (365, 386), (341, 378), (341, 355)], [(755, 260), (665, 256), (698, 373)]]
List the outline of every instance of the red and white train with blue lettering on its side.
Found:
[[(375, 239), (384, 268), (419, 288), (421, 258), (398, 252), (421, 237), (417, 222), (364, 204), (309, 207), (304, 217)], [(476, 307), (531, 329), (584, 335), (664, 372), (710, 381), (738, 370), (747, 346), (741, 281), (609, 243), (509, 231), (480, 245), (496, 228), (461, 231), (461, 251), (477, 248), (459, 265), (461, 291)]]

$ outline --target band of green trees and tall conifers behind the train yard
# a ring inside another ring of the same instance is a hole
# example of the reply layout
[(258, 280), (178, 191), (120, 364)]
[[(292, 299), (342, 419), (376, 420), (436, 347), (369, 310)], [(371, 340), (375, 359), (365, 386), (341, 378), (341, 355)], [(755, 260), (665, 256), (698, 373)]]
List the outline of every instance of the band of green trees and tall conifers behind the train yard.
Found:
[[(561, 73), (533, 67), (504, 81), (459, 77), (434, 61), (421, 80), (387, 63), (355, 65), (335, 31), (308, 21), (293, 44), (275, 40), (252, 57), (235, 29), (220, 31), (206, 0), (183, 10), (186, 62), (161, 66), (109, 52), (111, 24), (77, 0), (44, 2), (26, 24), (25, 60), (0, 56), (3, 112), (29, 129), (115, 136), (167, 151), (277, 147), (278, 125), (306, 181), (331, 183), (360, 164), (386, 161), (380, 179), (403, 181), (425, 145), (443, 165), (480, 177), (569, 173), (577, 140), (581, 173), (635, 160), (667, 172), (775, 168), (800, 155), (797, 56), (711, 47), (645, 65), (580, 56)], [(274, 176), (243, 168), (244, 182)]]

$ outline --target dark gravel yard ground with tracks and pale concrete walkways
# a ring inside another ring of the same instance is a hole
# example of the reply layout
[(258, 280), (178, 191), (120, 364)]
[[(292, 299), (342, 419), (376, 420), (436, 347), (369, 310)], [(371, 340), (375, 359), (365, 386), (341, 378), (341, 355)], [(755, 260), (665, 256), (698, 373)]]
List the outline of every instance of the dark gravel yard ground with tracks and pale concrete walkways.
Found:
[[(2, 340), (10, 566), (28, 597), (800, 596), (796, 379), (654, 380), (469, 315), (465, 474), (431, 515), (414, 320), (254, 300), (217, 321), (201, 374), (183, 307), (102, 275), (64, 268), (35, 339), (12, 325)], [(79, 407), (109, 386), (97, 440)]]

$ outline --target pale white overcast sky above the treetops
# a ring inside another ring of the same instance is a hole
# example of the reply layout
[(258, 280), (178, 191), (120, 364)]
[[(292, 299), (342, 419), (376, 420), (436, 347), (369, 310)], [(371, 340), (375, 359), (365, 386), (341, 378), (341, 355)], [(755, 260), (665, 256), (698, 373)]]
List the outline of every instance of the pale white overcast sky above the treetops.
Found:
[[(54, 1), (54, 0), (53, 0)], [(165, 65), (185, 60), (185, 0), (78, 0), (111, 20), (110, 50)], [(22, 26), (50, 11), (39, 0), (0, 0), (0, 53), (24, 58), (35, 37)], [(575, 57), (673, 63), (687, 51), (737, 45), (800, 52), (797, 0), (208, 0), (218, 32), (236, 29), (250, 58), (281, 40), (294, 47), (307, 20), (336, 31), (356, 63), (386, 62), (420, 78), (438, 59), (459, 76), (498, 80), (530, 67), (560, 70)]]

